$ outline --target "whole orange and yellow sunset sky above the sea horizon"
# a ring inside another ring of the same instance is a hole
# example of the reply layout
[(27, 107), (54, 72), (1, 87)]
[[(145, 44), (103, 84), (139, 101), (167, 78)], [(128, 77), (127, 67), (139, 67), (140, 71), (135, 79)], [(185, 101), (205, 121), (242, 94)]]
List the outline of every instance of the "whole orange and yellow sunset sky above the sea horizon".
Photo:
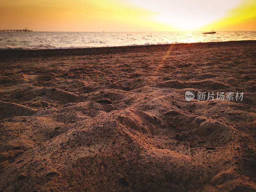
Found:
[(0, 0), (0, 29), (256, 31), (256, 0)]

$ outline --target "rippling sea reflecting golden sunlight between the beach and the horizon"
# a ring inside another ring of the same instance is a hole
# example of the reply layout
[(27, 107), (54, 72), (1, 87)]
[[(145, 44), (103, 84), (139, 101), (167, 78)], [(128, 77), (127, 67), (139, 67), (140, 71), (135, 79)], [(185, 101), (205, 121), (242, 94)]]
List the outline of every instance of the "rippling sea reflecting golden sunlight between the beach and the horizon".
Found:
[(0, 32), (0, 49), (67, 49), (256, 40), (256, 31), (201, 32)]

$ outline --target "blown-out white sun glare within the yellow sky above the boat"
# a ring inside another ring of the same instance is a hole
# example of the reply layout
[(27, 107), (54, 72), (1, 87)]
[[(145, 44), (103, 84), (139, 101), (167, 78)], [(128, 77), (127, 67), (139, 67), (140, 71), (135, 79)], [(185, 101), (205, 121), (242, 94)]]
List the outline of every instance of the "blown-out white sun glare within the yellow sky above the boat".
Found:
[(182, 30), (196, 29), (217, 20), (234, 8), (239, 0), (140, 0), (132, 2), (157, 13), (154, 20), (170, 24)]

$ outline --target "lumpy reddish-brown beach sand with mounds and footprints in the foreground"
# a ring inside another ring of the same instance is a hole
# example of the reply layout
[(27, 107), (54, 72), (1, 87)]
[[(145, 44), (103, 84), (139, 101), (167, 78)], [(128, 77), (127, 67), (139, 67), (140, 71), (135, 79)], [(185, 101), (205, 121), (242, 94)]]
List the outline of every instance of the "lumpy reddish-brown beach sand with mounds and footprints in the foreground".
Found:
[(1, 192), (256, 191), (256, 41), (9, 50), (0, 66)]

